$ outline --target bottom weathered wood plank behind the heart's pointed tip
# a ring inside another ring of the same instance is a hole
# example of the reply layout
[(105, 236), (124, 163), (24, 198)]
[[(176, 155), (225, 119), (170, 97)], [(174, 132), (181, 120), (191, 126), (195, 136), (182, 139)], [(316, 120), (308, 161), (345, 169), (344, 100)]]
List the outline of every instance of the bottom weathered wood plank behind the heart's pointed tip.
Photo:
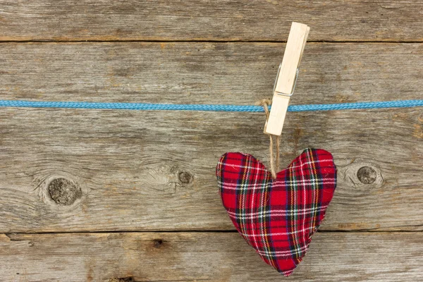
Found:
[(283, 278), (238, 233), (0, 235), (4, 281), (421, 281), (422, 233), (317, 233)]

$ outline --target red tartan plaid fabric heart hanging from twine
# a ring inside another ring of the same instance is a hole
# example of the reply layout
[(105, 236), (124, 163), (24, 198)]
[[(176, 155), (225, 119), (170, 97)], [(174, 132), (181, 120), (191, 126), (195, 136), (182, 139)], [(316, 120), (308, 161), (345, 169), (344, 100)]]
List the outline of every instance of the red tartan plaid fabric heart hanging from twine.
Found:
[(223, 206), (264, 262), (289, 276), (308, 250), (336, 187), (331, 153), (305, 149), (273, 180), (250, 154), (223, 154), (216, 167)]

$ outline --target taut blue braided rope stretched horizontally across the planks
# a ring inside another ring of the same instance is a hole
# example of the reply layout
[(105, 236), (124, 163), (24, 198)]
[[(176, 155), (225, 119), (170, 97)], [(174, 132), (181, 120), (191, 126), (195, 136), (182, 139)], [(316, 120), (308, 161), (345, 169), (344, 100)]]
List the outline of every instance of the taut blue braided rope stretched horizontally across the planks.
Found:
[[(332, 111), (346, 109), (386, 109), (423, 106), (423, 100), (399, 100), (389, 102), (359, 102), (342, 104), (293, 105), (288, 111)], [(0, 107), (66, 108), (66, 109), (124, 109), (161, 111), (264, 111), (262, 106), (237, 106), (219, 104), (145, 104), (104, 102), (35, 102), (22, 100), (0, 100)]]

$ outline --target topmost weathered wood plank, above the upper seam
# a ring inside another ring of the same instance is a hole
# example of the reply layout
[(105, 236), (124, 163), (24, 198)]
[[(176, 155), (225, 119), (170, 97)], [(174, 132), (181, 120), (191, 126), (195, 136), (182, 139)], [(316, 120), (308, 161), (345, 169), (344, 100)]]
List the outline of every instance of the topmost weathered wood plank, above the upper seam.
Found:
[(0, 1), (0, 40), (423, 41), (422, 1)]

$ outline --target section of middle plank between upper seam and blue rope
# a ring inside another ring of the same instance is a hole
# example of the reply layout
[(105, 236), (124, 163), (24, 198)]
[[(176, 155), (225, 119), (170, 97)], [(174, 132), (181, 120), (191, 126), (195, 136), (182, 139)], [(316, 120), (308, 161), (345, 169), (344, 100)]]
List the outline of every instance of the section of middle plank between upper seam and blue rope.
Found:
[[(0, 99), (255, 104), (284, 44), (0, 44)], [(307, 44), (291, 104), (421, 99), (423, 44)]]

